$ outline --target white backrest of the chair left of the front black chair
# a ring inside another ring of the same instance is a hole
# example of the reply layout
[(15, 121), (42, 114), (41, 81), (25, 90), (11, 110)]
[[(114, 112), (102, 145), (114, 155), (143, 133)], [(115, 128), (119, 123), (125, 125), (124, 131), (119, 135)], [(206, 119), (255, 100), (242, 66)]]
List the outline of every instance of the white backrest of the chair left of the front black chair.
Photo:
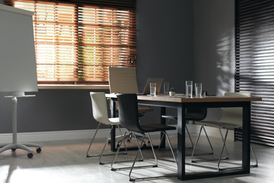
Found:
[(93, 118), (98, 122), (111, 125), (107, 114), (107, 99), (104, 92), (90, 92)]

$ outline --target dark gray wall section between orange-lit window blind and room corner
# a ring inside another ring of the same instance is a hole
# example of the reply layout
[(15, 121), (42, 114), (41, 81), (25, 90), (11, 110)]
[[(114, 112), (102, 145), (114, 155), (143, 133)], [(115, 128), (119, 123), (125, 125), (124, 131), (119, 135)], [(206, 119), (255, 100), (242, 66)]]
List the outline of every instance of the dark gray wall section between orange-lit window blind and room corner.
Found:
[(163, 77), (182, 93), (193, 80), (193, 31), (193, 1), (137, 1), (138, 81)]

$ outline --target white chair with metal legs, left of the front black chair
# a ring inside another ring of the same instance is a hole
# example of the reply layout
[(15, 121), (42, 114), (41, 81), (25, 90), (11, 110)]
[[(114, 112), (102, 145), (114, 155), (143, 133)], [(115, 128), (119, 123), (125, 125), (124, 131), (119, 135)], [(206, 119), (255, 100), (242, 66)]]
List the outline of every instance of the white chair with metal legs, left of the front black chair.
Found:
[[(103, 155), (104, 151), (105, 151), (105, 146), (107, 145), (107, 142), (110, 139), (110, 134), (113, 130), (113, 127), (116, 125), (117, 127), (119, 127), (120, 122), (119, 122), (119, 118), (108, 118), (107, 115), (107, 100), (105, 98), (105, 93), (103, 92), (90, 92), (90, 96), (91, 96), (91, 103), (92, 103), (92, 112), (93, 112), (93, 118), (99, 122), (98, 127), (96, 129), (95, 134), (93, 135), (93, 138), (91, 140), (91, 144), (89, 144), (89, 149), (88, 151), (86, 151), (86, 157), (96, 157), (96, 156), (100, 156), (99, 158), (99, 162), (100, 165), (103, 165), (105, 163), (101, 162), (101, 158), (102, 156), (111, 156), (111, 155), (115, 155), (115, 153), (112, 154), (105, 154)], [(91, 145), (93, 143), (94, 138), (96, 137), (96, 134), (98, 132), (98, 129), (100, 127), (101, 124), (104, 125), (109, 125), (110, 126), (110, 133), (107, 136), (107, 140), (105, 141), (105, 146), (103, 147), (103, 151), (100, 153), (100, 155), (91, 155), (89, 154), (89, 150), (91, 149)], [(122, 135), (122, 132), (119, 128), (120, 134)], [(124, 144), (125, 145), (125, 144)], [(127, 151), (124, 152), (124, 154), (126, 154)]]

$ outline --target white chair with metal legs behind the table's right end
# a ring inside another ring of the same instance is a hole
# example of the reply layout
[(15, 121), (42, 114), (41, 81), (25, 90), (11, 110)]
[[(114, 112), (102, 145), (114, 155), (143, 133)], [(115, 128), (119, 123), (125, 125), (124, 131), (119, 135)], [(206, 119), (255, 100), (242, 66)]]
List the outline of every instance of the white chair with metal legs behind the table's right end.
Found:
[[(242, 92), (242, 93), (225, 93), (225, 96), (238, 96), (238, 97), (246, 97), (246, 96), (252, 96), (252, 93), (248, 92)], [(217, 121), (195, 121), (195, 125), (201, 125), (200, 128), (200, 133), (198, 134), (197, 141), (195, 142), (195, 146), (193, 148), (193, 153), (191, 155), (191, 162), (192, 163), (197, 163), (200, 160), (193, 160), (193, 156), (195, 154), (195, 149), (197, 147), (197, 143), (200, 139), (200, 134), (202, 132), (202, 129), (205, 131), (205, 126), (208, 127), (216, 127), (218, 128), (220, 134), (221, 134), (221, 139), (223, 140), (223, 146), (221, 147), (221, 154), (218, 158), (218, 170), (221, 170), (220, 168), (220, 163), (221, 159), (228, 159), (228, 151), (226, 149), (226, 138), (228, 136), (228, 130), (234, 130), (235, 128), (242, 128), (242, 108), (223, 108), (223, 113), (221, 115), (221, 119)], [(226, 130), (225, 137), (223, 137), (223, 134), (221, 132), (221, 129)], [(211, 146), (211, 144), (210, 144)], [(254, 158), (256, 160), (256, 164), (252, 165), (253, 167), (258, 166), (258, 160), (256, 158), (256, 154), (254, 152), (254, 149), (252, 147), (252, 144), (250, 144), (250, 147), (252, 149), (252, 153), (254, 155)], [(211, 146), (212, 149), (212, 146)], [(225, 149), (226, 151), (226, 157), (222, 158), (223, 155), (223, 150)]]

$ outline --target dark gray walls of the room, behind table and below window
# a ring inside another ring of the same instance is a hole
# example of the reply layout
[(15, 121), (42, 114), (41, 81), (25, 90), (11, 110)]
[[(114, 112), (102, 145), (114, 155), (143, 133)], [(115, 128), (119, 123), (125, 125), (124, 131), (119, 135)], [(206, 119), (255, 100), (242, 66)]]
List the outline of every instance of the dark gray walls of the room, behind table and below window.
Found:
[[(230, 56), (234, 42), (232, 20), (233, 0), (137, 0), (139, 90), (147, 77), (164, 77), (178, 93), (184, 92), (185, 80), (203, 82), (204, 89), (213, 94), (219, 85), (229, 89), (232, 75), (221, 66), (228, 65), (229, 70), (234, 61)], [(92, 118), (89, 92), (39, 89), (30, 93), (36, 97), (18, 99), (18, 132), (95, 128), (98, 123)], [(12, 132), (11, 109), (11, 99), (0, 94), (0, 133)], [(156, 116), (158, 120), (157, 108), (143, 120)]]

